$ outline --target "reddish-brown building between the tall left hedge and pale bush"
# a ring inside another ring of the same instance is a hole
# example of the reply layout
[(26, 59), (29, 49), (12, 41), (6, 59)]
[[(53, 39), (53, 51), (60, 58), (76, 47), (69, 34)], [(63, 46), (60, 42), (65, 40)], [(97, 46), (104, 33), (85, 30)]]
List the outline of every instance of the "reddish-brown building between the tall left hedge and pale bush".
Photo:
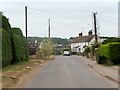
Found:
[(35, 40), (35, 42), (28, 42), (28, 46), (29, 46), (30, 55), (34, 55), (38, 50), (40, 50), (41, 43)]

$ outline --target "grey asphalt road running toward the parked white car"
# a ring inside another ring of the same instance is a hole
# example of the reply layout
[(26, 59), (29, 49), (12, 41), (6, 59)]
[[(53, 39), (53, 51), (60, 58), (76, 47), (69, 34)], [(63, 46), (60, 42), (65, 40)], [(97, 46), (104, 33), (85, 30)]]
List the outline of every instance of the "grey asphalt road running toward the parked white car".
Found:
[(57, 56), (45, 65), (26, 88), (117, 88), (78, 56)]

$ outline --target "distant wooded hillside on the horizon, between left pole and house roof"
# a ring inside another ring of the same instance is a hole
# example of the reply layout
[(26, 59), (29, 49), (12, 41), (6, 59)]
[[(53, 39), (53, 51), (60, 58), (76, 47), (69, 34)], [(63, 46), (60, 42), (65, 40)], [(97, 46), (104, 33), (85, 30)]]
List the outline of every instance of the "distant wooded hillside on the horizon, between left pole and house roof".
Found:
[[(39, 41), (42, 42), (44, 39), (47, 39), (46, 37), (28, 37), (28, 41)], [(51, 38), (51, 41), (53, 44), (61, 44), (61, 45), (70, 45), (71, 41), (68, 39), (62, 39), (62, 38)]]

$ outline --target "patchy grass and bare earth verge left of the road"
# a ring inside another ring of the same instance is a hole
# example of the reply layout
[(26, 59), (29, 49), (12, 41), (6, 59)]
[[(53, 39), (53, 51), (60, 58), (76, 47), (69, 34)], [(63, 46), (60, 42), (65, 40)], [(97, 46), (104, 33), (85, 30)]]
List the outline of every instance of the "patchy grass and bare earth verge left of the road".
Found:
[[(29, 71), (31, 71), (32, 69), (25, 69), (24, 72), (22, 73), (18, 73), (17, 71), (21, 71), (24, 68), (26, 68), (26, 65), (33, 65), (35, 63), (39, 63), (41, 64), (40, 61), (23, 61), (23, 62), (18, 62), (15, 63), (14, 65), (9, 65), (6, 67), (2, 68), (2, 87), (3, 88), (9, 88), (9, 87), (15, 87), (19, 81), (19, 78), (21, 76), (23, 76), (24, 74), (27, 74)], [(24, 66), (25, 65), (25, 66)], [(14, 76), (15, 74), (17, 74), (17, 78), (16, 79), (11, 79), (11, 76)]]

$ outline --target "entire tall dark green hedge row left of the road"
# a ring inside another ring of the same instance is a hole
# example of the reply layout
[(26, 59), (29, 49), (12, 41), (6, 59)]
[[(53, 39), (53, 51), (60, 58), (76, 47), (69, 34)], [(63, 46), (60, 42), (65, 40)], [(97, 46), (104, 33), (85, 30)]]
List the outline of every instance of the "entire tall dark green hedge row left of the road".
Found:
[(19, 28), (11, 28), (8, 19), (2, 15), (2, 67), (18, 61), (28, 60), (27, 40)]

